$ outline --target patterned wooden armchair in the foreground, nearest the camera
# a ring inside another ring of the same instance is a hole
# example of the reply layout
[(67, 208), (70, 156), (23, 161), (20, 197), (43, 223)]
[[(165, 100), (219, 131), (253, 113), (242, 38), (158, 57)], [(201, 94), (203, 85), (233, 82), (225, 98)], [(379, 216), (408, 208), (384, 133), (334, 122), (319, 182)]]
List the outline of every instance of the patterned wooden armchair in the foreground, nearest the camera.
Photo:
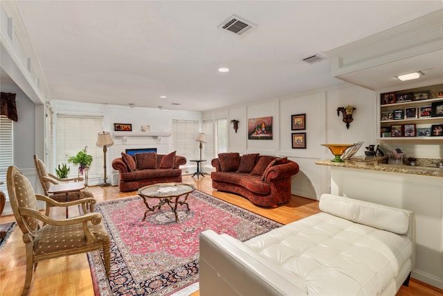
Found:
[[(101, 223), (100, 214), (87, 213), (55, 220), (40, 213), (37, 207), (37, 200), (43, 200), (52, 207), (66, 207), (90, 202), (91, 198), (56, 202), (45, 195), (35, 194), (29, 180), (15, 166), (8, 168), (7, 185), (11, 208), (26, 244), (26, 279), (22, 295), (29, 292), (37, 263), (60, 256), (102, 249), (106, 275), (109, 277), (111, 240)], [(64, 240), (68, 242), (61, 243)]]

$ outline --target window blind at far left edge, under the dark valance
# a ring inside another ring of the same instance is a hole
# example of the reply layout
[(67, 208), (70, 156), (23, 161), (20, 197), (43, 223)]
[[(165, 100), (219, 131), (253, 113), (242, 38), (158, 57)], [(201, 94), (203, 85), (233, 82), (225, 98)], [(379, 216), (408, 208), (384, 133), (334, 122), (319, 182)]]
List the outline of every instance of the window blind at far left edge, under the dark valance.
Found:
[(8, 198), (8, 189), (6, 187), (6, 172), (8, 167), (12, 166), (13, 155), (13, 141), (12, 141), (12, 120), (8, 119), (4, 115), (0, 115), (0, 190)]

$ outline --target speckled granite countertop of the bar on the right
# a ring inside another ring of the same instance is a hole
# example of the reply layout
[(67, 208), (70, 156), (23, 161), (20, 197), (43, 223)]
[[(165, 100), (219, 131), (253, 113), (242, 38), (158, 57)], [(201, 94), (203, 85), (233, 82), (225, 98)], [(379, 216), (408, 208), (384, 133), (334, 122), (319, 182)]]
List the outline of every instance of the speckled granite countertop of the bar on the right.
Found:
[(374, 162), (364, 162), (363, 159), (346, 160), (345, 162), (331, 162), (330, 159), (325, 159), (317, 161), (316, 164), (319, 164), (321, 166), (359, 168), (361, 170), (370, 170), (370, 171), (443, 177), (443, 168), (431, 168), (427, 166), (405, 166), (405, 165), (399, 166), (394, 164), (376, 164)]

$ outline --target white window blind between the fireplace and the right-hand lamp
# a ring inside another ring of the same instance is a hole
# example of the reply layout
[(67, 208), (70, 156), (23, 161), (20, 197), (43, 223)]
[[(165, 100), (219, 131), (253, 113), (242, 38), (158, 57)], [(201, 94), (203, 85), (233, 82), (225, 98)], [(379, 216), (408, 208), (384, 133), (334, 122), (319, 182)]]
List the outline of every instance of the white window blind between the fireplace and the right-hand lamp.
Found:
[[(188, 159), (199, 159), (199, 142), (195, 141), (199, 134), (198, 121), (172, 121), (172, 146), (181, 155)], [(198, 155), (198, 156), (197, 156)]]

